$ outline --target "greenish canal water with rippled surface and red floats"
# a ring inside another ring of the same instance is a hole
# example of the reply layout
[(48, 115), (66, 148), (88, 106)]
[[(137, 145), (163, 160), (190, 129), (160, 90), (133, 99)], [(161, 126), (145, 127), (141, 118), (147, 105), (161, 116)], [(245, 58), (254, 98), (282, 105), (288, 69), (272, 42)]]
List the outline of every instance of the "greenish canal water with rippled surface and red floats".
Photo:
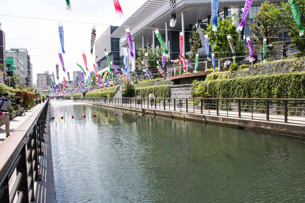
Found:
[(305, 201), (303, 139), (72, 101), (50, 111), (57, 202)]

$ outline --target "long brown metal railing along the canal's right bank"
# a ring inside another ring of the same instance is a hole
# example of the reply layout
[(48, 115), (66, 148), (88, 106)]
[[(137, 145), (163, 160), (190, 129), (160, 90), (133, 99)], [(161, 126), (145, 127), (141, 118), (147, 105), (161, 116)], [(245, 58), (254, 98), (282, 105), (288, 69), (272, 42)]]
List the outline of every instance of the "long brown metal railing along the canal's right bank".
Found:
[(305, 124), (305, 99), (74, 98), (75, 101)]

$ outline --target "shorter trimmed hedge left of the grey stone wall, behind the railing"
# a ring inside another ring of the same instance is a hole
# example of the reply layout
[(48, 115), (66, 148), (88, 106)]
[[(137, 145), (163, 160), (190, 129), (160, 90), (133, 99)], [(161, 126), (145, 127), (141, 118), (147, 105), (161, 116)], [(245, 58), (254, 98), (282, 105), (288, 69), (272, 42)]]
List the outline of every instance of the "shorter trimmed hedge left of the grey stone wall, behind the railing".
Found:
[(140, 94), (142, 98), (147, 98), (149, 97), (151, 91), (155, 95), (155, 97), (170, 98), (170, 85), (136, 87), (135, 96)]

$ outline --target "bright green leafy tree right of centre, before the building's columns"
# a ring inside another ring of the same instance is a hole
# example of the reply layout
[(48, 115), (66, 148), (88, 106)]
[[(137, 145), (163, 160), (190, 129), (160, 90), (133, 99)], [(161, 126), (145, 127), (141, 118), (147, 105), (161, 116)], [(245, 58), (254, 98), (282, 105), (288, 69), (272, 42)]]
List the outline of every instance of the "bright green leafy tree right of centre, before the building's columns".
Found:
[[(235, 15), (235, 14), (234, 14)], [(232, 16), (227, 16), (226, 19), (218, 19), (217, 34), (212, 31), (212, 19), (210, 25), (203, 32), (209, 34), (210, 45), (213, 45), (213, 51), (217, 52), (220, 58), (226, 58), (232, 56), (232, 51), (228, 42), (227, 35), (231, 35), (233, 45), (235, 47), (236, 56), (243, 56), (246, 54), (246, 48), (242, 44), (242, 40), (239, 39), (239, 33), (236, 32), (236, 26), (233, 24)], [(236, 22), (235, 22), (236, 23)], [(211, 55), (210, 55), (210, 58)], [(243, 60), (243, 58), (237, 58), (236, 61)]]

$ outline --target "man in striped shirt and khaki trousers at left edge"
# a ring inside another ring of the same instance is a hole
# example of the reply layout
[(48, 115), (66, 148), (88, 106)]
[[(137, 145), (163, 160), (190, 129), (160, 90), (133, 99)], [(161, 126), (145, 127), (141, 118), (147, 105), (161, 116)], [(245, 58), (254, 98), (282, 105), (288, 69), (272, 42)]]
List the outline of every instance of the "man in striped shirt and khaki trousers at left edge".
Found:
[(2, 116), (0, 116), (0, 123), (3, 121), (5, 124), (6, 137), (9, 136), (9, 115), (8, 108), (12, 108), (12, 102), (9, 100), (9, 94), (7, 92), (2, 93), (0, 98), (0, 111)]

